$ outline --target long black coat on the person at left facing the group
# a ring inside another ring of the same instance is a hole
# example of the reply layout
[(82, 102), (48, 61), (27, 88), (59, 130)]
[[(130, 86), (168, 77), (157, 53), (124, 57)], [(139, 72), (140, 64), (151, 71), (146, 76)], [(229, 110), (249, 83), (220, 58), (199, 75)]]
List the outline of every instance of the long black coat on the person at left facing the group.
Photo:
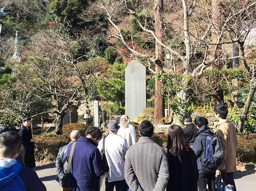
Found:
[(23, 126), (19, 129), (19, 136), (21, 136), (21, 144), (25, 148), (25, 166), (34, 168), (35, 167), (35, 154), (34, 154), (34, 142), (31, 142), (32, 131), (27, 127)]

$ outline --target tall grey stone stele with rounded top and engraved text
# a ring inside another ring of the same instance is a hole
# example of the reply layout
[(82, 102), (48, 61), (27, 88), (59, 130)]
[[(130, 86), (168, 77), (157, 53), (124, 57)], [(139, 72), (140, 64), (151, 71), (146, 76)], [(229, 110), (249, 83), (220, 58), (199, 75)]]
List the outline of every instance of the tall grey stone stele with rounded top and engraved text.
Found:
[(136, 60), (125, 68), (125, 114), (136, 118), (146, 108), (146, 68)]

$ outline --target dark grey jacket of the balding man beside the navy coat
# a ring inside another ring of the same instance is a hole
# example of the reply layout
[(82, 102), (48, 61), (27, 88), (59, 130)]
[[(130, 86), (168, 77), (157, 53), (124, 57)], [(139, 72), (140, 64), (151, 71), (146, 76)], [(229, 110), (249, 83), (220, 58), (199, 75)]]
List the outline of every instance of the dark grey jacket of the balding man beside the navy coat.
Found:
[[(74, 141), (70, 141), (69, 144), (71, 144), (73, 142)], [(66, 169), (68, 167), (66, 155), (67, 155), (67, 150), (68, 150), (69, 144), (60, 147), (56, 161), (55, 161), (55, 166), (56, 166), (56, 170), (57, 170), (56, 181), (59, 182), (60, 186), (61, 186), (61, 178), (66, 174)]]

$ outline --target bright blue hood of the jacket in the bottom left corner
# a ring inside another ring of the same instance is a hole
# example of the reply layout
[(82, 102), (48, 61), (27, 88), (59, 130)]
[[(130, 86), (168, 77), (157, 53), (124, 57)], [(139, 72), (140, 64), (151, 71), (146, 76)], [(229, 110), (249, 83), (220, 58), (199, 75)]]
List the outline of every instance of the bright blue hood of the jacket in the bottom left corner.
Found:
[(22, 165), (19, 162), (13, 164), (11, 167), (0, 167), (0, 187), (6, 185), (17, 177), (21, 167)]

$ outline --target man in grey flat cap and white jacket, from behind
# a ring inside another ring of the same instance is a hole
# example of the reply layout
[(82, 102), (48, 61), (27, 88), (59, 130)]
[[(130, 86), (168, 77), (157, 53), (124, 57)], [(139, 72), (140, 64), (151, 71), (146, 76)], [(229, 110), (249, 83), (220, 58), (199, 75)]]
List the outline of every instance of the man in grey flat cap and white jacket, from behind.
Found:
[[(125, 156), (128, 150), (125, 138), (117, 135), (120, 128), (116, 121), (111, 121), (107, 125), (108, 136), (105, 137), (104, 151), (108, 161), (109, 172), (105, 175), (106, 191), (127, 191), (125, 182)], [(98, 149), (103, 151), (103, 139), (99, 141)]]

